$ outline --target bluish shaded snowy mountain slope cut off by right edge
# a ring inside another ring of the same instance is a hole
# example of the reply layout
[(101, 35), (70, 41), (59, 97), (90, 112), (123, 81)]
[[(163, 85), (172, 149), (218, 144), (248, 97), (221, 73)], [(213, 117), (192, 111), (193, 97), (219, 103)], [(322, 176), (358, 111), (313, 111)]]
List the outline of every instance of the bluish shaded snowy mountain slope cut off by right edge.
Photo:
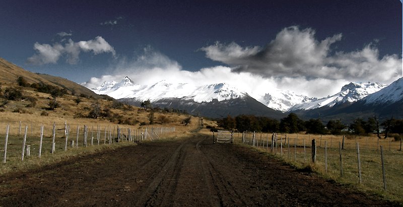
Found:
[(397, 101), (403, 100), (403, 78), (400, 78), (388, 87), (381, 89), (380, 91), (368, 95), (363, 99), (365, 104), (384, 104), (395, 103)]

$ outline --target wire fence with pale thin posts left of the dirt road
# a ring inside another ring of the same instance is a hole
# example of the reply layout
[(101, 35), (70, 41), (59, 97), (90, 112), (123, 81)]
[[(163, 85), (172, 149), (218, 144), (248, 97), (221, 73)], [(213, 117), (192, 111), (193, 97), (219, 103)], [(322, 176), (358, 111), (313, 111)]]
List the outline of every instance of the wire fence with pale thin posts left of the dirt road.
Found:
[(161, 135), (171, 132), (175, 132), (175, 127), (122, 128), (119, 125), (88, 126), (66, 122), (43, 126), (20, 121), (1, 127), (0, 134), (4, 134), (4, 139), (0, 139), (0, 155), (3, 163), (24, 161), (24, 157), (40, 158), (45, 153), (94, 145), (158, 140)]

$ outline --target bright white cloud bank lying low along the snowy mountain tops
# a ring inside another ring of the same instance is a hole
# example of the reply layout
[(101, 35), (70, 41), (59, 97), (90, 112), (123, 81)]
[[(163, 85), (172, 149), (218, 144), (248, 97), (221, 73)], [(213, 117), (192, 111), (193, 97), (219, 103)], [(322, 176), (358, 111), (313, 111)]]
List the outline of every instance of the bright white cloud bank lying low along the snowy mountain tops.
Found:
[(346, 80), (307, 80), (301, 77), (267, 78), (247, 72), (234, 73), (228, 66), (206, 67), (190, 72), (183, 70), (177, 61), (171, 60), (151, 47), (146, 47), (141, 55), (130, 60), (120, 59), (119, 63), (110, 68), (107, 74), (93, 77), (83, 85), (88, 88), (96, 88), (104, 82), (119, 82), (126, 76), (136, 84), (148, 86), (162, 80), (170, 83), (188, 83), (194, 86), (227, 83), (247, 92), (255, 99), (260, 99), (266, 93), (277, 89), (289, 90), (311, 97), (324, 97), (339, 92), (342, 86), (349, 83)]

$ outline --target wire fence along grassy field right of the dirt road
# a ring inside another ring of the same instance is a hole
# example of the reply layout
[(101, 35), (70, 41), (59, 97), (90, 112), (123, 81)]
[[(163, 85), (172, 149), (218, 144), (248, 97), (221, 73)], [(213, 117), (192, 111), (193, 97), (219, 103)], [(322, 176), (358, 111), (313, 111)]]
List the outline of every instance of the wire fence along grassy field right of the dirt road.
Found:
[(393, 137), (243, 132), (234, 135), (234, 142), (313, 167), (342, 182), (403, 198), (403, 153), (401, 141)]

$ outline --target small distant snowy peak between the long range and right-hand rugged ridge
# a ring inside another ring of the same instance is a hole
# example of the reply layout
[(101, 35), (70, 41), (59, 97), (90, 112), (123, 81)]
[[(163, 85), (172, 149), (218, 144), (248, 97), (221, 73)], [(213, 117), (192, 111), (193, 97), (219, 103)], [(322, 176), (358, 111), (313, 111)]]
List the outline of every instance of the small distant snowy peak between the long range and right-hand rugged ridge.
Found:
[(296, 104), (309, 103), (315, 100), (317, 99), (298, 95), (291, 91), (280, 90), (272, 90), (270, 93), (264, 94), (261, 99), (258, 99), (258, 101), (267, 107), (283, 112), (286, 112)]

